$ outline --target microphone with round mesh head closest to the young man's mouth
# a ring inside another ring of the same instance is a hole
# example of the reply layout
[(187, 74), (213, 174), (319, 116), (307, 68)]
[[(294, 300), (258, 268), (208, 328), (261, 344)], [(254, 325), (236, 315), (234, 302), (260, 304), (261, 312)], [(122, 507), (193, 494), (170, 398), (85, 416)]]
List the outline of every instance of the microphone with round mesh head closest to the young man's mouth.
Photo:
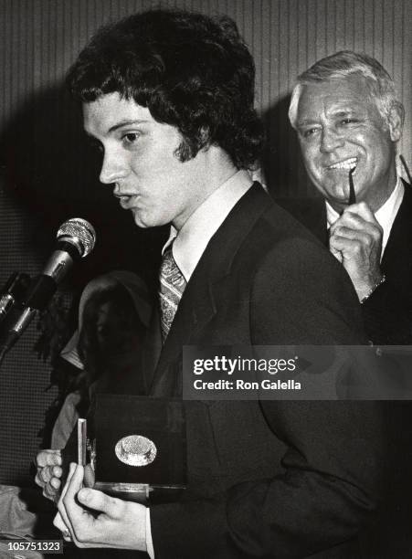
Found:
[(47, 308), (59, 281), (61, 281), (79, 258), (85, 258), (94, 248), (96, 232), (85, 219), (73, 217), (59, 228), (54, 252), (42, 273), (32, 280), (20, 308), (12, 320), (6, 323), (6, 334), (0, 341), (0, 363), (28, 324), (39, 311)]

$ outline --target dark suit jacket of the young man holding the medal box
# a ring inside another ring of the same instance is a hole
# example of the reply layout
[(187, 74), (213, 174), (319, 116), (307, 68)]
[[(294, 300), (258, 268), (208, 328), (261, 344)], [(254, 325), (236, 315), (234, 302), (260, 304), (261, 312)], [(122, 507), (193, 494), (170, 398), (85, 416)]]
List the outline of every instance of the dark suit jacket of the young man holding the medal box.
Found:
[[(146, 382), (180, 395), (185, 344), (355, 344), (361, 322), (340, 265), (255, 184), (210, 240)], [(153, 357), (157, 315), (151, 333)], [(183, 405), (188, 489), (151, 508), (156, 559), (358, 556), (379, 484), (375, 403)]]

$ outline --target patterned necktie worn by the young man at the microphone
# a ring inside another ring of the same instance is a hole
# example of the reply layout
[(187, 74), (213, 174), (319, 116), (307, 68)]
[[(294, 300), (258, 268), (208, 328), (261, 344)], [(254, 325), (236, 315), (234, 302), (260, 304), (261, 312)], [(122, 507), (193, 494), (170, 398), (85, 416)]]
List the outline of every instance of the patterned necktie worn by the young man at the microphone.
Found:
[(184, 275), (177, 267), (172, 254), (172, 246), (166, 248), (160, 265), (160, 324), (162, 341), (167, 337), (186, 287)]

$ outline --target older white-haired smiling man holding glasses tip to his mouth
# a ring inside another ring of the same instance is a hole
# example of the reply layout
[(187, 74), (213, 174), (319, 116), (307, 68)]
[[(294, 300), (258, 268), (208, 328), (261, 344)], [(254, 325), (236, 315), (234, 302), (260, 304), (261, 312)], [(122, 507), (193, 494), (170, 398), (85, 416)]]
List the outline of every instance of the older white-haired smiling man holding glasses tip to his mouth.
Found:
[(411, 343), (412, 192), (396, 174), (404, 108), (393, 79), (375, 58), (338, 52), (301, 74), (289, 115), (326, 204), (288, 209), (342, 262), (369, 338)]

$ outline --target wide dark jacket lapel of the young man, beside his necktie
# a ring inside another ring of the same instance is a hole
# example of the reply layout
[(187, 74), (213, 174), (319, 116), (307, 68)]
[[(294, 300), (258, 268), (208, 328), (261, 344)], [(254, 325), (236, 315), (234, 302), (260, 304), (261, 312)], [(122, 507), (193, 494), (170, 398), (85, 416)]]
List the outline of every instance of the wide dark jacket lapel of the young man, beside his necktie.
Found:
[[(182, 348), (201, 340), (201, 332), (217, 313), (224, 279), (230, 272), (238, 248), (271, 203), (269, 195), (255, 183), (210, 239), (174, 316), (154, 373), (151, 396), (175, 396), (180, 393)], [(175, 370), (171, 371), (171, 368)]]

